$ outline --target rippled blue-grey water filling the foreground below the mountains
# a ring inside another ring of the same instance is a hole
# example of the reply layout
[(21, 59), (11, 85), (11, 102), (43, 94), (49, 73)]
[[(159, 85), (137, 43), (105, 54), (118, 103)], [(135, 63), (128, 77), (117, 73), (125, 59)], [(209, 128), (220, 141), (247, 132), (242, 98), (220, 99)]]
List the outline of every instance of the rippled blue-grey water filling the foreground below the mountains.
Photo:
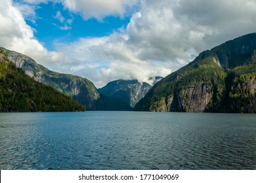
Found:
[(0, 169), (256, 169), (256, 116), (2, 113)]

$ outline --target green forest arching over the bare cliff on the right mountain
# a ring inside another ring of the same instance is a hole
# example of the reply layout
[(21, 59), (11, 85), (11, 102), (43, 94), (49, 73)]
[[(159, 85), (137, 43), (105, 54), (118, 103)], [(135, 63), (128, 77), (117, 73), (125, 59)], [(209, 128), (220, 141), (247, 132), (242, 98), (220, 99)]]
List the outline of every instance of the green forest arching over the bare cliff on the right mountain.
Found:
[[(146, 97), (137, 103), (135, 110), (153, 110), (153, 108), (164, 105), (163, 101), (174, 97), (181, 90), (190, 86), (205, 84), (212, 88), (211, 93), (215, 90), (215, 97), (210, 102), (209, 109), (214, 111), (217, 103), (221, 101), (221, 95), (225, 90), (225, 77), (227, 74), (215, 62), (215, 58), (206, 58), (201, 61), (194, 61), (162, 79), (147, 93)], [(187, 97), (183, 95), (181, 97)], [(178, 103), (173, 103), (172, 108), (177, 108)], [(184, 107), (183, 111), (188, 108)], [(177, 110), (179, 111), (179, 110)]]

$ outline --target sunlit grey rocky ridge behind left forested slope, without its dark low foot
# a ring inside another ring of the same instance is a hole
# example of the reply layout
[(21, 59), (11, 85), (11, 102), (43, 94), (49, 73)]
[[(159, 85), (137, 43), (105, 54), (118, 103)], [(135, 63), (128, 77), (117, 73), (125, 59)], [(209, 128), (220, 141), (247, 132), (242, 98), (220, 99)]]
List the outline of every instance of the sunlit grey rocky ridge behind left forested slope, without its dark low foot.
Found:
[(99, 99), (100, 93), (98, 93), (94, 84), (86, 78), (50, 71), (23, 54), (5, 48), (2, 49), (7, 56), (12, 58), (12, 62), (20, 64), (21, 69), (30, 73), (29, 76), (35, 78), (35, 80), (78, 101), (81, 105), (86, 106), (86, 110), (96, 110), (96, 101)]

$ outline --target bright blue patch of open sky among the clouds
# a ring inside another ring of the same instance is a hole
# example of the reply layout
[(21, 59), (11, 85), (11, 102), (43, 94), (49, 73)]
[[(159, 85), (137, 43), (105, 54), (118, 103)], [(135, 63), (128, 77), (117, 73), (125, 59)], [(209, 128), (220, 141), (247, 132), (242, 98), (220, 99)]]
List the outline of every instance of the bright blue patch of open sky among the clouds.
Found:
[[(54, 41), (72, 42), (80, 37), (104, 37), (120, 27), (126, 27), (130, 16), (106, 16), (102, 20), (90, 18), (84, 20), (82, 16), (69, 12), (62, 3), (41, 3), (35, 9), (38, 16), (36, 23), (27, 19), (28, 25), (36, 29), (35, 37), (45, 43), (45, 47), (54, 51)], [(59, 18), (56, 15), (59, 15)], [(61, 17), (61, 18), (60, 18)], [(67, 22), (70, 20), (70, 22)], [(65, 29), (65, 26), (67, 27)], [(61, 28), (62, 27), (62, 28)]]

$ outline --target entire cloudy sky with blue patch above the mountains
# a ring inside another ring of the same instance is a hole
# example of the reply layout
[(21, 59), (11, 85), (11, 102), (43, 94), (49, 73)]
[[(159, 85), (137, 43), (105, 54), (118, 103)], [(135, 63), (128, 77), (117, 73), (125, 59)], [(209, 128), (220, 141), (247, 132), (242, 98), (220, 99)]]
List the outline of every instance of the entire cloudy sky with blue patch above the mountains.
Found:
[(256, 32), (255, 0), (0, 0), (0, 46), (101, 88)]

